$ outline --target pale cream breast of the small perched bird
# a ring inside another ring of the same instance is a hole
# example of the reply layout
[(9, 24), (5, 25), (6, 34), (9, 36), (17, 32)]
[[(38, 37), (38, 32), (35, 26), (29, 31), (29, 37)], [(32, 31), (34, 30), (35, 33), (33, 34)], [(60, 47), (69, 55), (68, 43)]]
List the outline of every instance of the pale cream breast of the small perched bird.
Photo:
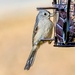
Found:
[(50, 20), (43, 20), (39, 24), (39, 32), (41, 32), (44, 36), (51, 34), (52, 28), (53, 23)]

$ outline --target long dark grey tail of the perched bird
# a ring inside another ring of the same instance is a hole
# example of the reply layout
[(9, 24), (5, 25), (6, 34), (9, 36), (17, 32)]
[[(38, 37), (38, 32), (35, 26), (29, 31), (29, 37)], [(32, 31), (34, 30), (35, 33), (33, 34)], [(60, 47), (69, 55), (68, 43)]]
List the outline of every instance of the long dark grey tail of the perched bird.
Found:
[(31, 53), (30, 53), (30, 55), (29, 55), (29, 58), (28, 58), (28, 60), (27, 60), (27, 62), (26, 62), (26, 65), (25, 65), (25, 67), (24, 67), (24, 70), (29, 70), (30, 67), (33, 65), (36, 52), (37, 52), (37, 48), (35, 48), (35, 49), (32, 48), (32, 51), (31, 51)]

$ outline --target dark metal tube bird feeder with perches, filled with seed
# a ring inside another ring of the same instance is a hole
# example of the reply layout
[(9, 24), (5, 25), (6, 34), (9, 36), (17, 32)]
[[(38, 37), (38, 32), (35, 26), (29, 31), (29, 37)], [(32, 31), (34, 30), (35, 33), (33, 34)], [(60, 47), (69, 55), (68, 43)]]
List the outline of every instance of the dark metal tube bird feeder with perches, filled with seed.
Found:
[(52, 7), (39, 7), (53, 9), (56, 14), (54, 21), (54, 39), (42, 39), (42, 41), (54, 41), (55, 47), (75, 47), (75, 0), (53, 0)]

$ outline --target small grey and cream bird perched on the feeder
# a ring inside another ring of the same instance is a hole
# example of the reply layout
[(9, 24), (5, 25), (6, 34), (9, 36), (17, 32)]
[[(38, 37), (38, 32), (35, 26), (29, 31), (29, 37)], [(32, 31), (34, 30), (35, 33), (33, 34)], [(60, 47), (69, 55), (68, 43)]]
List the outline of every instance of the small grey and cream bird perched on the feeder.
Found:
[[(37, 50), (43, 43), (46, 42), (46, 41), (41, 41), (41, 39), (47, 39), (52, 37), (53, 22), (50, 20), (50, 15), (52, 17), (52, 13), (44, 9), (44, 10), (39, 10), (39, 13), (36, 16), (36, 22), (34, 25), (33, 36), (32, 36), (32, 50), (24, 67), (24, 70), (30, 69), (30, 67), (34, 63)], [(51, 42), (52, 41), (48, 41), (49, 44)]]

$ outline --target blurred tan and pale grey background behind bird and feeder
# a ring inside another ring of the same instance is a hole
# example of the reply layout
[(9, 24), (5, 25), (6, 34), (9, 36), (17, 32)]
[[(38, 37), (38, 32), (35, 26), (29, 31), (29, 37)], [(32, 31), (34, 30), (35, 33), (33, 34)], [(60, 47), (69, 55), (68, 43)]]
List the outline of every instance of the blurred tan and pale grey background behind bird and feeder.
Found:
[(37, 7), (52, 0), (0, 0), (0, 75), (75, 75), (75, 48), (42, 45), (34, 65), (24, 70), (32, 46)]

